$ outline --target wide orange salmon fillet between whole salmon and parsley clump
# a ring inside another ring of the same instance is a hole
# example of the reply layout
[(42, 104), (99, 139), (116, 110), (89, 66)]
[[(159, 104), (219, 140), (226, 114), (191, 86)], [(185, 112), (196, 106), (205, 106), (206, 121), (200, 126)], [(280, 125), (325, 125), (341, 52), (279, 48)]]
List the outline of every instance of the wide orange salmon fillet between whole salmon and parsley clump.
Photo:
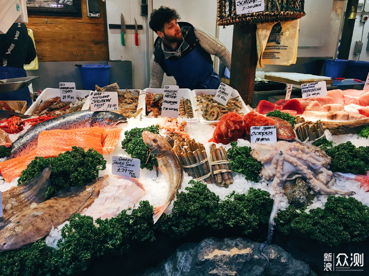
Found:
[(72, 150), (73, 146), (94, 149), (102, 154), (101, 144), (106, 136), (106, 130), (98, 127), (44, 130), (38, 135), (36, 156), (55, 157)]

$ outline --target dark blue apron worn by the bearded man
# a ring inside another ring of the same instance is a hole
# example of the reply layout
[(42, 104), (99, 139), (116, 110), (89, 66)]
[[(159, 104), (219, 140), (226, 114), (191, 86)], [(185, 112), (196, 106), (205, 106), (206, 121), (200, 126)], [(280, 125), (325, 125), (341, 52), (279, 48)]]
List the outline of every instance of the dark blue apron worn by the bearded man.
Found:
[(219, 76), (215, 73), (213, 65), (204, 59), (197, 48), (187, 56), (177, 59), (164, 59), (168, 73), (172, 75), (179, 88), (218, 89)]

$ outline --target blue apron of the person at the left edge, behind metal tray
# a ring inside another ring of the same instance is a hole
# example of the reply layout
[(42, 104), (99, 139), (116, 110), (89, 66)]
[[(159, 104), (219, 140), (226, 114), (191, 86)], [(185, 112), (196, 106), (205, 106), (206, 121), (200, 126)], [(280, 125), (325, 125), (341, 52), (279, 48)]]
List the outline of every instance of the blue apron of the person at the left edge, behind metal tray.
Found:
[[(26, 70), (15, 67), (0, 66), (0, 80), (27, 77)], [(27, 101), (32, 104), (28, 87), (10, 92), (0, 92), (1, 101)]]

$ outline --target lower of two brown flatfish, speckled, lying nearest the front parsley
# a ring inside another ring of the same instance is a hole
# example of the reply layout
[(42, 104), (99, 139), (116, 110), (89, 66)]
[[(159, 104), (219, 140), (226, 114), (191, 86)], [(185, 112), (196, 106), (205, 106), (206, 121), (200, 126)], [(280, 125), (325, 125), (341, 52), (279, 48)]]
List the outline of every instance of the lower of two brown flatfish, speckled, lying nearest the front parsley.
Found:
[(108, 175), (98, 177), (88, 186), (71, 187), (33, 208), (27, 208), (0, 231), (0, 251), (20, 248), (47, 236), (75, 213), (88, 208), (98, 197)]

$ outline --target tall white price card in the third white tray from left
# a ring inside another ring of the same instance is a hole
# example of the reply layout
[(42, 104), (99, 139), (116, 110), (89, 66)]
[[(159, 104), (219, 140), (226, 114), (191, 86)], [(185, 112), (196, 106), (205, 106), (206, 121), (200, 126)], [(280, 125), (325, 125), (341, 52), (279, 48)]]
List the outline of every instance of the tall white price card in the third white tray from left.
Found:
[(164, 85), (161, 116), (177, 118), (179, 114), (178, 85)]

